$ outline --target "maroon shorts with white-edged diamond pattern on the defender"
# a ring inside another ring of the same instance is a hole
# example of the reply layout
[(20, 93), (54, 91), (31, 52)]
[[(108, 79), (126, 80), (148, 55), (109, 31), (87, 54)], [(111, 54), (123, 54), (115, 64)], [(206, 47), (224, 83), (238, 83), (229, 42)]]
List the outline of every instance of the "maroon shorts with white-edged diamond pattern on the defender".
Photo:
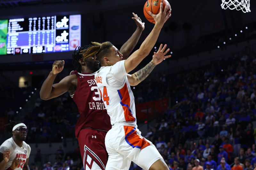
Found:
[(85, 170), (105, 169), (108, 159), (105, 147), (106, 134), (107, 132), (100, 130), (80, 130), (78, 143)]

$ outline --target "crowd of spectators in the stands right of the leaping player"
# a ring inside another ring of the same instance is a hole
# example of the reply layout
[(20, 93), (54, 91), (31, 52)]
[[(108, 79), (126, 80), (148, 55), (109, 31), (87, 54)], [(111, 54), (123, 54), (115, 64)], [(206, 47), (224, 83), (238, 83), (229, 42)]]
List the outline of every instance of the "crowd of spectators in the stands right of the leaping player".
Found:
[(171, 98), (172, 107), (156, 113), (146, 135), (170, 169), (254, 169), (255, 66), (256, 55), (243, 52), (136, 87), (137, 101)]

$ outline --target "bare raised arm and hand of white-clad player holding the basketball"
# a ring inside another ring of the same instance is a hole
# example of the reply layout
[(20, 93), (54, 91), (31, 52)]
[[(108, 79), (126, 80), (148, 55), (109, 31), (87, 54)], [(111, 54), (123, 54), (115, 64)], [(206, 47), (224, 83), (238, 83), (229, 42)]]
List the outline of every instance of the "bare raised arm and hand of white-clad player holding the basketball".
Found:
[(124, 67), (127, 73), (132, 71), (139, 63), (149, 54), (151, 49), (156, 43), (159, 33), (164, 26), (165, 21), (171, 16), (171, 10), (168, 10), (168, 5), (165, 5), (163, 10), (163, 4), (160, 4), (160, 12), (155, 15), (149, 11), (149, 14), (154, 18), (156, 24), (153, 30), (149, 33), (148, 37), (143, 41), (140, 48), (136, 50), (132, 55), (125, 60)]

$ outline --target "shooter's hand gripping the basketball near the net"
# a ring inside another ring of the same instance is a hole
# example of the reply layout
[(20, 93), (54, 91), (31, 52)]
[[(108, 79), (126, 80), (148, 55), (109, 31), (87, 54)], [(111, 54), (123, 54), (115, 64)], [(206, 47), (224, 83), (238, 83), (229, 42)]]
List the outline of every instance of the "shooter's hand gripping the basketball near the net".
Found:
[(165, 5), (165, 8), (163, 10), (163, 3), (160, 3), (160, 12), (158, 14), (153, 14), (152, 12), (148, 11), (149, 15), (152, 16), (156, 22), (156, 24), (159, 24), (161, 26), (164, 26), (165, 21), (171, 17), (172, 9), (168, 9), (168, 5)]

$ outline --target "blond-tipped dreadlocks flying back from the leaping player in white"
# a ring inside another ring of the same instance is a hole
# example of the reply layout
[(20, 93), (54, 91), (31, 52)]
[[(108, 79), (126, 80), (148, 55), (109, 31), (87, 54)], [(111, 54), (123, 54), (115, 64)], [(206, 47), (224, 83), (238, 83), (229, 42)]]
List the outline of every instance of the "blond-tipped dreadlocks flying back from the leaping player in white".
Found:
[(96, 55), (97, 59), (100, 61), (100, 63), (102, 63), (103, 56), (107, 55), (110, 52), (110, 47), (112, 47), (113, 44), (109, 41), (105, 41), (102, 43), (99, 43), (99, 42), (91, 42), (91, 43), (92, 44), (89, 47), (81, 50), (81, 53), (83, 53), (83, 59)]

